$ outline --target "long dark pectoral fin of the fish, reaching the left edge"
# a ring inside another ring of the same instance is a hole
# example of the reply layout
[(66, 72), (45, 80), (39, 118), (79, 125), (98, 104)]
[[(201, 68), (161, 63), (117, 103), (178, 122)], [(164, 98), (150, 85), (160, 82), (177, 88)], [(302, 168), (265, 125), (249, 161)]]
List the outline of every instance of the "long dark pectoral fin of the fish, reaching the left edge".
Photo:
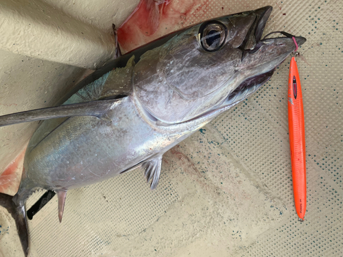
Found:
[(120, 101), (121, 99), (106, 99), (28, 110), (26, 112), (16, 112), (0, 116), (0, 127), (62, 117), (94, 116), (101, 118), (108, 110), (115, 108)]

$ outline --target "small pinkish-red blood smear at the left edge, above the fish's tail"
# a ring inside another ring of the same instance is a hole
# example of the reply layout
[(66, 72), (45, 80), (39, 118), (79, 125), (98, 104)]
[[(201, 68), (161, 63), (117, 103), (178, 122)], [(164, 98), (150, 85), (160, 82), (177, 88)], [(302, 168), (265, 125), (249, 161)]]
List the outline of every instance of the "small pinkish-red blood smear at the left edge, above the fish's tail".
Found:
[(23, 167), (25, 150), (26, 147), (0, 175), (0, 193), (14, 195), (18, 191), (22, 172), (20, 168)]

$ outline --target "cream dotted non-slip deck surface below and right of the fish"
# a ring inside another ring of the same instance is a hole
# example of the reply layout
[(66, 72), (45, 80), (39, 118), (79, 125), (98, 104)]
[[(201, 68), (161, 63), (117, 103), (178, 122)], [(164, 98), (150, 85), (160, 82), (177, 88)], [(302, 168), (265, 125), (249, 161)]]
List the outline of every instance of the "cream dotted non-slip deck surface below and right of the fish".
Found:
[(292, 192), (288, 58), (255, 95), (165, 154), (156, 191), (139, 169), (69, 191), (62, 223), (54, 197), (29, 221), (32, 256), (343, 256), (343, 2), (202, 3), (189, 23), (272, 5), (265, 33), (307, 38), (296, 58), (305, 221), (298, 221)]

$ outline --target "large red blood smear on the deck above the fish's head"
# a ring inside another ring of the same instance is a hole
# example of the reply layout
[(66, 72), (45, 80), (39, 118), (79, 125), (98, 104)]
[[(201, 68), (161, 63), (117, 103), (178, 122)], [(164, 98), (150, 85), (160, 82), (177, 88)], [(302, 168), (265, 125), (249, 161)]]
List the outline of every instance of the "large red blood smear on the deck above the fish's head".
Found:
[(211, 14), (206, 13), (208, 7), (206, 0), (141, 0), (118, 29), (121, 50), (126, 53), (191, 23), (225, 14), (221, 7)]

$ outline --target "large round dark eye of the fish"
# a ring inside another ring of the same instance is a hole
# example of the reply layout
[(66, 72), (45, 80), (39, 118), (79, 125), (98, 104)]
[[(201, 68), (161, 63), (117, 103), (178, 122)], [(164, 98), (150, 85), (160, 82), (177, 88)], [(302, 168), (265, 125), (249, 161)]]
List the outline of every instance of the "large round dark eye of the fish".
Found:
[(222, 23), (212, 21), (202, 24), (199, 33), (202, 48), (205, 51), (213, 52), (224, 45), (227, 29)]

